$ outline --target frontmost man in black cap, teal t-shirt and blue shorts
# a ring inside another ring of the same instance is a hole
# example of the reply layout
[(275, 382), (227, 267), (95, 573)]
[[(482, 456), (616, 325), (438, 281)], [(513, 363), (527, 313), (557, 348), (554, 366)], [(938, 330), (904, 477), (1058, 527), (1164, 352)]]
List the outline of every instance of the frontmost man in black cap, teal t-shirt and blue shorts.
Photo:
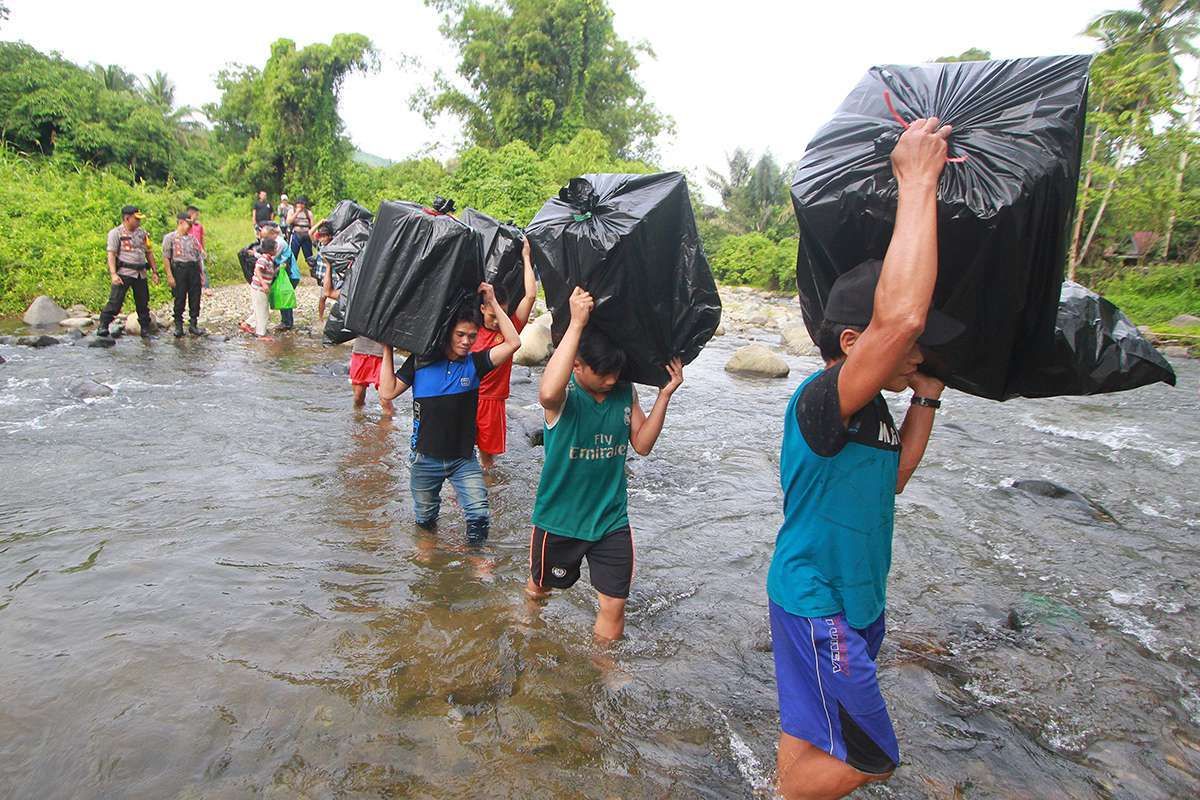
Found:
[[(784, 524), (767, 578), (779, 688), (779, 789), (841, 798), (884, 781), (900, 748), (876, 678), (895, 495), (920, 463), (943, 385), (919, 345), (961, 325), (930, 308), (937, 185), (950, 127), (917, 120), (892, 154), (899, 190), (887, 255), (833, 284), (817, 331), (826, 367), (784, 419)], [(898, 429), (880, 391), (912, 389)]]

